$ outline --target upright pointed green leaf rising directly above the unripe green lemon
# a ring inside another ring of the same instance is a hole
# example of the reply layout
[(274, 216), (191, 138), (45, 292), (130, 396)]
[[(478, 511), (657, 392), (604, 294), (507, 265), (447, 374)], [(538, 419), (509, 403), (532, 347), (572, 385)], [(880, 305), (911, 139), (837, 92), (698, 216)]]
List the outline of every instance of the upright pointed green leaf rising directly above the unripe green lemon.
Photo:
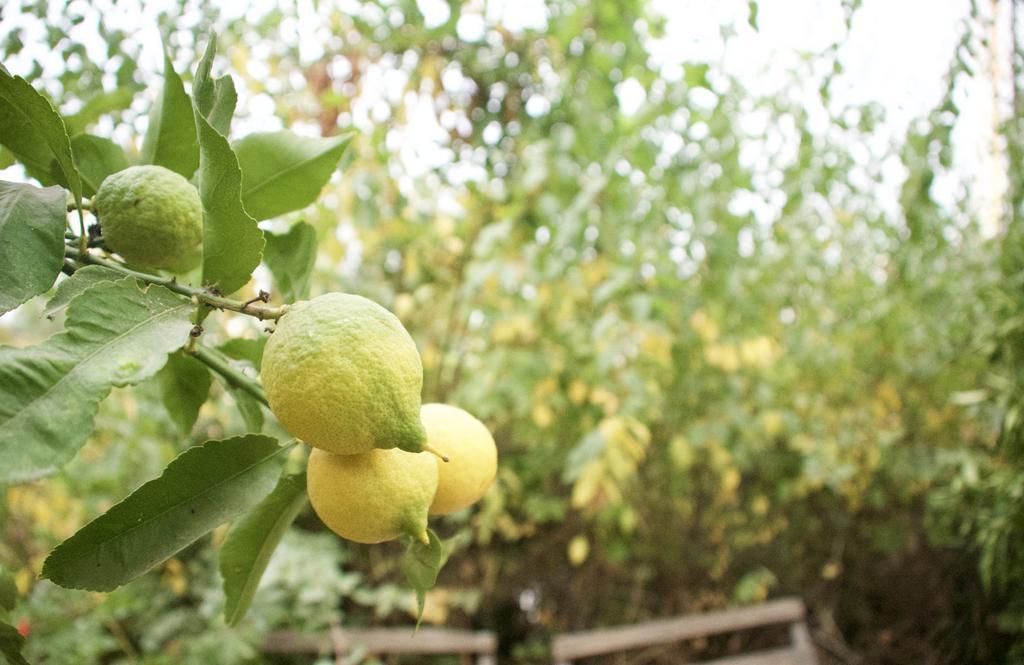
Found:
[(164, 88), (150, 110), (142, 163), (158, 164), (189, 178), (199, 167), (199, 153), (191, 101), (171, 58), (164, 53)]

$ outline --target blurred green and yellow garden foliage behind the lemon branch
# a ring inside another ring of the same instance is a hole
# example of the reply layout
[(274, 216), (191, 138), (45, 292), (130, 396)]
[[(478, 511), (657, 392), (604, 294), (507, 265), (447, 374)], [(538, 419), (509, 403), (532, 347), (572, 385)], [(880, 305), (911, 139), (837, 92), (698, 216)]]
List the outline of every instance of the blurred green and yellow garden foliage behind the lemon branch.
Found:
[[(724, 41), (758, 29), (759, 3), (735, 4)], [(839, 4), (849, 28), (860, 3)], [(357, 130), (321, 202), (268, 228), (313, 224), (312, 292), (394, 310), (424, 400), (495, 432), (496, 485), (438, 525), (458, 547), (428, 622), (545, 662), (557, 631), (798, 594), (823, 662), (1024, 658), (1019, 94), (997, 118), (996, 227), (949, 185), (957, 86), (1001, 57), (991, 11), (1009, 2), (966, 6), (946, 93), (895, 138), (878, 105), (834, 101), (841, 44), (763, 94), (714, 63), (652, 67), (665, 20), (641, 0), (553, 0), (518, 30), (473, 2), (430, 23), (412, 0), (270, 5), (170, 3), (159, 24), (179, 71), (220, 32), (237, 133)], [(75, 128), (137, 152), (157, 73), (103, 10), (5, 6), (3, 54)], [(25, 55), (33, 39), (58, 76)], [(58, 329), (41, 309), (5, 317), (0, 340)], [(251, 320), (209, 334), (265, 336)], [(215, 387), (178, 431), (152, 383), (115, 391), (62, 473), (6, 490), (0, 562), (30, 660), (292, 662), (261, 655), (267, 630), (409, 623), (398, 549), (309, 512), (237, 629), (217, 617), (223, 534), (110, 594), (37, 581), (50, 547), (182, 448), (247, 427)]]

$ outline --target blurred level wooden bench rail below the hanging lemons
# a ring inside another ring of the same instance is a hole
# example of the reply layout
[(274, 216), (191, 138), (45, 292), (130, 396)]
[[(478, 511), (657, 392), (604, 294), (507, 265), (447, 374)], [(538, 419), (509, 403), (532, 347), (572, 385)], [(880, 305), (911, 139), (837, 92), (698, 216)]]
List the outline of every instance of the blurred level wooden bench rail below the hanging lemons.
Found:
[(334, 629), (327, 633), (304, 634), (276, 630), (267, 635), (263, 652), (268, 654), (345, 654), (365, 649), (375, 656), (463, 655), (475, 657), (476, 665), (497, 663), (498, 637), (493, 632), (413, 627)]

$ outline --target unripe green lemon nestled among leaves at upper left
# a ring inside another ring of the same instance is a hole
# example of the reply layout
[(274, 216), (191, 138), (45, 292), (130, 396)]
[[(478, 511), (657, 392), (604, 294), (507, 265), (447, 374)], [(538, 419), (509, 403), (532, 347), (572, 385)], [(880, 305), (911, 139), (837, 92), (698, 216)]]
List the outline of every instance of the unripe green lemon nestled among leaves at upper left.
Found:
[(93, 200), (103, 242), (129, 263), (183, 269), (200, 258), (203, 204), (163, 166), (130, 166), (103, 178)]

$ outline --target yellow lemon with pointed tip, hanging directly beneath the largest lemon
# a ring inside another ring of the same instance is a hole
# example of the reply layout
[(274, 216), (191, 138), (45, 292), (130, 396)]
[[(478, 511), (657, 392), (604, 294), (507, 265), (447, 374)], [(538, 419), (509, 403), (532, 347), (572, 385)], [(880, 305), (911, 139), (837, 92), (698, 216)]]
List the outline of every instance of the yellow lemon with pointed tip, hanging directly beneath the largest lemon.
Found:
[(342, 538), (380, 543), (409, 535), (429, 542), (427, 507), (437, 489), (437, 462), (429, 453), (313, 449), (306, 482), (313, 510)]

